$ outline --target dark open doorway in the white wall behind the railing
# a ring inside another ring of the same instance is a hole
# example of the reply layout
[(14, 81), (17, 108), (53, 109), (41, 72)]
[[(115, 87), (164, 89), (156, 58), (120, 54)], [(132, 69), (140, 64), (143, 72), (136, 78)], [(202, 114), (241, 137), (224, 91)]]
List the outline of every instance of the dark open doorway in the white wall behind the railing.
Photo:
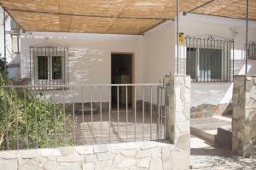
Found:
[[(132, 83), (132, 54), (111, 54), (111, 83), (112, 84), (130, 84)], [(119, 90), (119, 93), (118, 93)], [(128, 106), (131, 107), (131, 87), (127, 88)], [(116, 109), (126, 107), (126, 88), (112, 87), (111, 89), (112, 108)], [(119, 94), (119, 99), (118, 99)], [(119, 100), (119, 101), (118, 101)]]

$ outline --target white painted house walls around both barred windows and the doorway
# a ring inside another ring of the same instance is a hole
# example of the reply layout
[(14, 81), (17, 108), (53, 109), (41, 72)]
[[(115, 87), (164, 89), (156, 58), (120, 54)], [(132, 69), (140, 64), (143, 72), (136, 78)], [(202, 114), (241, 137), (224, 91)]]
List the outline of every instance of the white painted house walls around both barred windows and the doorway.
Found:
[[(235, 40), (235, 74), (242, 74), (245, 57), (245, 20), (199, 14), (181, 16), (180, 31), (184, 36), (211, 34)], [(249, 22), (249, 41), (256, 41), (256, 22)], [(143, 36), (26, 32), (20, 36), (20, 77), (29, 77), (29, 48), (52, 46), (69, 48), (69, 82), (110, 83), (111, 53), (135, 55), (134, 83), (159, 82), (175, 74), (176, 22), (168, 21)], [(181, 55), (183, 58), (183, 54)], [(254, 67), (254, 68), (253, 68)], [(256, 74), (256, 61), (248, 61), (249, 74)], [(191, 106), (230, 103), (232, 83), (193, 82)]]

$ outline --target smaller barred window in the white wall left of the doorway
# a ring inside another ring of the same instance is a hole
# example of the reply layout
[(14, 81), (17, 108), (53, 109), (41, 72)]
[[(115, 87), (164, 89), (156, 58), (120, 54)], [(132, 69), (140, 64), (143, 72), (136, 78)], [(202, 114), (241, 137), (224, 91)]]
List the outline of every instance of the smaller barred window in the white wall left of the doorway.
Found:
[(67, 48), (31, 47), (30, 77), (36, 85), (68, 82)]

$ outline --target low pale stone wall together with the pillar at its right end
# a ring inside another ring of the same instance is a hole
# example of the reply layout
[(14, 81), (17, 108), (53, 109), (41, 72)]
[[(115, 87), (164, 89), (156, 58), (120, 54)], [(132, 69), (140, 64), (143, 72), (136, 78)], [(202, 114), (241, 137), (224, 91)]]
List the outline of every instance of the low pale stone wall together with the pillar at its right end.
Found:
[(0, 169), (189, 169), (190, 77), (170, 76), (165, 82), (168, 140), (0, 151)]

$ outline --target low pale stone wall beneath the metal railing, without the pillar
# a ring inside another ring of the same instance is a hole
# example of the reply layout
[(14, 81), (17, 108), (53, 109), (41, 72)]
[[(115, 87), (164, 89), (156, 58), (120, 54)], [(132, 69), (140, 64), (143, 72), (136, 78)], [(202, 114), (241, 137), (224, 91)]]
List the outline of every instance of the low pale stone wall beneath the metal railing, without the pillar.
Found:
[(168, 142), (96, 144), (0, 152), (0, 169), (188, 169), (188, 152)]

